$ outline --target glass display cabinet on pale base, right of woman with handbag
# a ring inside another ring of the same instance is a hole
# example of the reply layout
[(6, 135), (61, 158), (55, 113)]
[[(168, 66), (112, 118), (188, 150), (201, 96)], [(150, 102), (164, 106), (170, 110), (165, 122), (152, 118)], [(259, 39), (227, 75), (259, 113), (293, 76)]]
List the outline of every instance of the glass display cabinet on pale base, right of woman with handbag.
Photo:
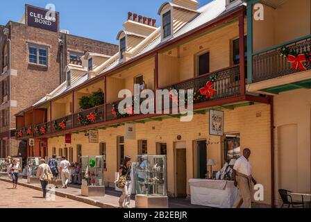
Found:
[(138, 155), (135, 167), (137, 208), (167, 208), (167, 156)]

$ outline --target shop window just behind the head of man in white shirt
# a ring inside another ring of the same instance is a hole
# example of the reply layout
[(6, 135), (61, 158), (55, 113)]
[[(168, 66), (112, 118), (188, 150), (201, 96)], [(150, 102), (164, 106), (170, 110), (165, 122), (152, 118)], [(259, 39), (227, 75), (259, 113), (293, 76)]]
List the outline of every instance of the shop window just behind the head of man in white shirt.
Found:
[(241, 153), (239, 134), (225, 135), (224, 137), (224, 160), (229, 162), (231, 159), (239, 158)]

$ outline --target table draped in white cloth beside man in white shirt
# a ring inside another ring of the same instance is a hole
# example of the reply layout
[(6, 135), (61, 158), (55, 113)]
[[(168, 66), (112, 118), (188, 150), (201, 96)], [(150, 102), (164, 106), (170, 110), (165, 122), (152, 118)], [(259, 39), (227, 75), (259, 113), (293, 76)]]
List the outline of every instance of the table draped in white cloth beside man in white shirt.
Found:
[(190, 179), (189, 184), (193, 205), (232, 208), (239, 195), (233, 181)]

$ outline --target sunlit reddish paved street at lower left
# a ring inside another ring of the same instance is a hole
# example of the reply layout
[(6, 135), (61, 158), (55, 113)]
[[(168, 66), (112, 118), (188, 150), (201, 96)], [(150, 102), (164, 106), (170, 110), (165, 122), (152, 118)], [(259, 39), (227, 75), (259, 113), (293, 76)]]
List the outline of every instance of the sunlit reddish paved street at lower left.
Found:
[(56, 196), (56, 201), (41, 198), (42, 192), (18, 186), (12, 189), (8, 182), (0, 180), (0, 208), (95, 208), (68, 198)]

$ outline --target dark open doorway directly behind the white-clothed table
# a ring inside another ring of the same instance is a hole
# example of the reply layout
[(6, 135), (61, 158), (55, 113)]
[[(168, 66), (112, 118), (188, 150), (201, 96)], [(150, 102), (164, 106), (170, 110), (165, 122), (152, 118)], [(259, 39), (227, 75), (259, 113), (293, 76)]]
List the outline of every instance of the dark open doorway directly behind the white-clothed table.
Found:
[(205, 179), (207, 170), (208, 148), (206, 140), (194, 142), (194, 178)]

